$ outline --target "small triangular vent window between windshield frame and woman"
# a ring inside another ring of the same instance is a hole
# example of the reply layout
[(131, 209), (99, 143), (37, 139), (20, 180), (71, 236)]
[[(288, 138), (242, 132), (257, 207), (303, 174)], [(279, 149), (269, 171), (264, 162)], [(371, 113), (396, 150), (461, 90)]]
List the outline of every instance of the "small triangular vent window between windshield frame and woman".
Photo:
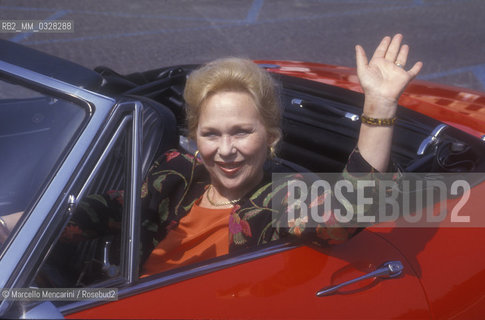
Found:
[[(125, 119), (126, 120), (126, 119)], [(35, 285), (44, 288), (93, 286), (115, 280), (124, 270), (122, 232), (129, 215), (131, 122), (124, 121), (88, 178), (84, 196), (44, 262)]]

